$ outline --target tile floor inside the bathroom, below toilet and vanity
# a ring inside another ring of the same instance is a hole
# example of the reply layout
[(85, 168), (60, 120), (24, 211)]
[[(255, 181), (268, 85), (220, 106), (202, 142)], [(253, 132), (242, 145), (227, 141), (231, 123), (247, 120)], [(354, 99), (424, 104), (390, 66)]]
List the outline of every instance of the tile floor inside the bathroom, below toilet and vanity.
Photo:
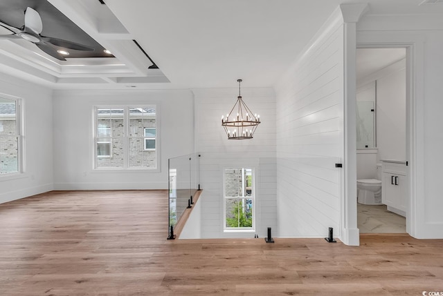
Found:
[(406, 218), (386, 209), (386, 205), (357, 203), (357, 226), (360, 233), (406, 233)]

